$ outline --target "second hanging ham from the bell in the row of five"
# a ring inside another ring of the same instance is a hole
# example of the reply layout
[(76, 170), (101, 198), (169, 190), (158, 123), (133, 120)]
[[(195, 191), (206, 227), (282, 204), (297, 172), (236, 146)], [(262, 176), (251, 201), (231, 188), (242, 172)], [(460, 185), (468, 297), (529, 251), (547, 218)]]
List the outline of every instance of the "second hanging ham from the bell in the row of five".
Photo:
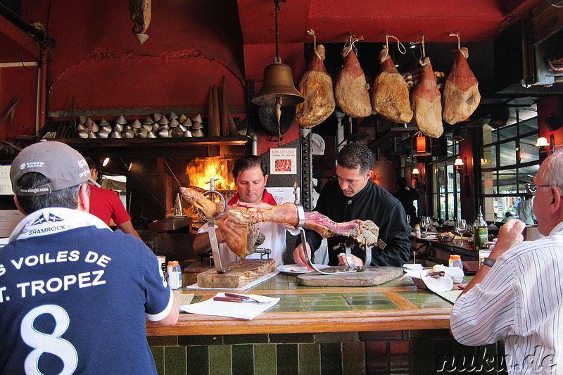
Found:
[(372, 103), (369, 100), (364, 71), (352, 47), (345, 46), (342, 56), (344, 65), (336, 77), (334, 87), (336, 104), (348, 116), (367, 117), (372, 114)]

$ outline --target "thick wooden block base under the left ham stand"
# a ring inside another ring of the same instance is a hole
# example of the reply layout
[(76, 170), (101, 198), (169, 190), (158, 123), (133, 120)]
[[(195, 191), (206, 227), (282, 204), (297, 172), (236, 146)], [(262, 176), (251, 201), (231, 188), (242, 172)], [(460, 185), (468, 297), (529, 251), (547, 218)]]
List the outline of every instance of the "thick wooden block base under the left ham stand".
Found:
[(224, 268), (230, 268), (229, 272), (217, 274), (215, 268), (208, 269), (198, 274), (198, 286), (201, 288), (241, 288), (246, 284), (269, 274), (276, 267), (273, 259), (243, 259), (239, 262), (231, 263)]

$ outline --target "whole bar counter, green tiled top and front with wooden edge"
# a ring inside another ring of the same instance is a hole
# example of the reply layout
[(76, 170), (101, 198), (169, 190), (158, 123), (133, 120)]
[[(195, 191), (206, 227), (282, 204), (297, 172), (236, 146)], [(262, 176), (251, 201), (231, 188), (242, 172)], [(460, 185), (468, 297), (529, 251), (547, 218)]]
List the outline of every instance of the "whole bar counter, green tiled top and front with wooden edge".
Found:
[[(184, 286), (194, 283), (189, 274), (184, 278)], [(180, 293), (194, 293), (196, 303), (217, 291), (182, 288)], [(483, 353), (502, 353), (497, 345), (469, 348), (455, 343), (448, 331), (453, 305), (410, 279), (322, 288), (298, 286), (295, 276), (278, 274), (251, 293), (279, 297), (280, 302), (251, 321), (181, 314), (176, 326), (149, 322), (148, 343), (158, 374), (471, 371), (453, 367), (453, 359), (460, 356), (474, 359), (480, 370), (474, 373), (491, 374)]]

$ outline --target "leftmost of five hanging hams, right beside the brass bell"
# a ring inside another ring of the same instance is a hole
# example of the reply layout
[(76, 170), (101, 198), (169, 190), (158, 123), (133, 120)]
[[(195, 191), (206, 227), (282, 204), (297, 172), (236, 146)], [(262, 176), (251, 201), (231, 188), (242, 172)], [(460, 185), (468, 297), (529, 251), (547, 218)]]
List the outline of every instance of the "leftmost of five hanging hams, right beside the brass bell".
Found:
[(319, 125), (334, 111), (332, 78), (324, 68), (323, 61), (324, 46), (319, 44), (299, 82), (299, 91), (305, 101), (297, 105), (295, 120), (301, 127)]

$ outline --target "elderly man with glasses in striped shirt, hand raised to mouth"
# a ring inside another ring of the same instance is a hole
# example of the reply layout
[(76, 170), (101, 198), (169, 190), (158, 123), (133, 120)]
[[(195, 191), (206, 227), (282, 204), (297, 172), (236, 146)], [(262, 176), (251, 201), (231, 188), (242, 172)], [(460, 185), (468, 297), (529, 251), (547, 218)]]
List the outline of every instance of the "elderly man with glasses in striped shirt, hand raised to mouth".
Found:
[[(491, 255), (458, 298), (450, 331), (464, 345), (505, 340), (510, 374), (563, 374), (563, 149), (552, 153), (526, 189), (545, 237), (523, 241), (525, 224), (502, 226)], [(499, 357), (495, 357), (499, 360)]]

